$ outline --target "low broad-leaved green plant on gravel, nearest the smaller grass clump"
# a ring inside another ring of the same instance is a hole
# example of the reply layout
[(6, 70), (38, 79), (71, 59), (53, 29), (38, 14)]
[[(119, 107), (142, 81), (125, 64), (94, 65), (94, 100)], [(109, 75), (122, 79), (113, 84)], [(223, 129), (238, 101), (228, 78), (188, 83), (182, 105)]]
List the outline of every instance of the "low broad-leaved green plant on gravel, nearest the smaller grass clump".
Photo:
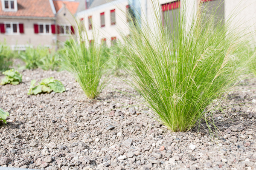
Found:
[(36, 80), (31, 81), (31, 85), (29, 87), (28, 95), (30, 94), (41, 94), (41, 93), (50, 93), (54, 91), (55, 93), (63, 93), (66, 91), (64, 85), (54, 78), (50, 77), (47, 79), (43, 79), (39, 82), (38, 85), (35, 86)]

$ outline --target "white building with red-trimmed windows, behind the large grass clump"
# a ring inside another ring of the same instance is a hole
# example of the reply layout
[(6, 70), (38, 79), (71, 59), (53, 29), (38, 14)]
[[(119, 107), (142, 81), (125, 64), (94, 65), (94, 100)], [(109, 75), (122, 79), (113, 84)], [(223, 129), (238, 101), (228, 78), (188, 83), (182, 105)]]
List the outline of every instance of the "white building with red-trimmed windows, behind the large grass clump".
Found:
[[(187, 24), (191, 24), (193, 15), (198, 10), (199, 3), (207, 7), (207, 12), (217, 11), (217, 19), (221, 22), (230, 20), (236, 28), (255, 30), (256, 1), (255, 0), (155, 0), (160, 3), (160, 14), (163, 25), (174, 28), (178, 20), (180, 8), (186, 6)], [(89, 42), (96, 34), (100, 41), (111, 45), (113, 40), (122, 41), (122, 35), (128, 35), (127, 14), (129, 8), (134, 12), (138, 21), (147, 20), (149, 27), (154, 27), (154, 4), (151, 0), (94, 0), (91, 6), (76, 14), (84, 22)], [(113, 19), (114, 18), (114, 19)], [(114, 20), (114, 22), (113, 22)], [(177, 28), (177, 25), (176, 25)]]

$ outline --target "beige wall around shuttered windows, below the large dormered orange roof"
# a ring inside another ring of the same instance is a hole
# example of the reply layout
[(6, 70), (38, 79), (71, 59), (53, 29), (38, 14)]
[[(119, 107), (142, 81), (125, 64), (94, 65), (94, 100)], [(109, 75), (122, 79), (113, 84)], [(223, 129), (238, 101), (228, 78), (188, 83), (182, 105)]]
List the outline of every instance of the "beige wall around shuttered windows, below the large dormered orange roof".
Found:
[(0, 18), (0, 23), (4, 22), (19, 22), (23, 23), (24, 34), (0, 34), (0, 42), (6, 39), (9, 45), (54, 45), (55, 35), (49, 34), (35, 34), (35, 23), (51, 23), (54, 24), (54, 20), (35, 20), (35, 19), (4, 19)]

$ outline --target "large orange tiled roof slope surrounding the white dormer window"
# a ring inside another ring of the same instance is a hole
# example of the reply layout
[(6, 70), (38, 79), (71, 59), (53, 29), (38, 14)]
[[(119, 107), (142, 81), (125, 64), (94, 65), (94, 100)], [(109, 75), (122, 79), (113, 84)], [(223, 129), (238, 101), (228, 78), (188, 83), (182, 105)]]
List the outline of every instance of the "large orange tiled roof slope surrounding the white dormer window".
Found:
[(17, 11), (3, 11), (2, 3), (0, 3), (0, 16), (54, 18), (55, 14), (49, 0), (17, 0)]

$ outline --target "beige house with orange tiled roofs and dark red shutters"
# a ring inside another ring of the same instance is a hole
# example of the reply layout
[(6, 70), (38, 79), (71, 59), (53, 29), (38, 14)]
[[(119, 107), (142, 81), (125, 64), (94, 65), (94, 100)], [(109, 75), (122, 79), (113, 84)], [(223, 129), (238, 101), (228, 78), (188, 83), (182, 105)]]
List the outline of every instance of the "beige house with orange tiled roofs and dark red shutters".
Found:
[(61, 0), (0, 0), (0, 42), (16, 50), (55, 46), (75, 34), (78, 6)]

